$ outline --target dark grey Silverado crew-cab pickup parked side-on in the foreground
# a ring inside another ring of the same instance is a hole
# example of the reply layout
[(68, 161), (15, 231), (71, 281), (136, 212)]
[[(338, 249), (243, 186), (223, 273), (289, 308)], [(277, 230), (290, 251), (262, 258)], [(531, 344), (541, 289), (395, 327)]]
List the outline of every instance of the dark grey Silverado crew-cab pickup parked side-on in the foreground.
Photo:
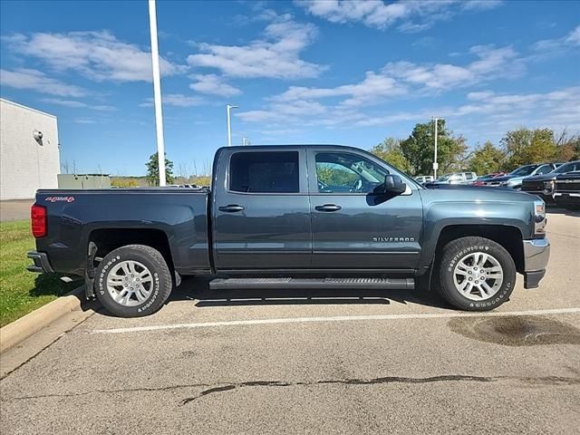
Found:
[(84, 277), (112, 314), (154, 313), (183, 275), (213, 289), (436, 289), (507, 301), (546, 273), (545, 203), (507, 189), (425, 189), (371, 153), (227, 147), (211, 189), (39, 190), (29, 270)]

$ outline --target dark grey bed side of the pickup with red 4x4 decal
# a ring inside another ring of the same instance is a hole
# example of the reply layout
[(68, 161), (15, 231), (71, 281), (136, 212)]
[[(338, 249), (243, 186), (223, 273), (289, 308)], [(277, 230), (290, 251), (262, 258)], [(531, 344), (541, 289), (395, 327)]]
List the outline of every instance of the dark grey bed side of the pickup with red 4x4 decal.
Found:
[(54, 270), (83, 275), (89, 240), (97, 246), (115, 237), (131, 242), (147, 232), (166, 236), (160, 240), (169, 242), (180, 274), (208, 271), (208, 193), (179, 188), (38, 190), (36, 205), (46, 208), (48, 229), (46, 237), (37, 239), (37, 249), (51, 252)]

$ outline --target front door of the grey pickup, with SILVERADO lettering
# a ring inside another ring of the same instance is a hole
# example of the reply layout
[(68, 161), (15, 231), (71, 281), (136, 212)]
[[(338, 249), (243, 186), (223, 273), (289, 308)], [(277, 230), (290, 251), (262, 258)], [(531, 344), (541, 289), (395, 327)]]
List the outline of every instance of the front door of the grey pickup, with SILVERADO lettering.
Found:
[(375, 194), (386, 174), (399, 175), (355, 149), (307, 149), (313, 268), (391, 269), (419, 264), (422, 204), (411, 180), (399, 196)]

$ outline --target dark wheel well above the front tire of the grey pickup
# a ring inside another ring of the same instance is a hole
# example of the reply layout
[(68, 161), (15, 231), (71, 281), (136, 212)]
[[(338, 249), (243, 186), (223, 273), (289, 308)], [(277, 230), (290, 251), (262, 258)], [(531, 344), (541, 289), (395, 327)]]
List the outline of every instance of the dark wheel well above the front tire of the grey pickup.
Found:
[(517, 272), (520, 274), (524, 272), (523, 237), (517, 227), (502, 225), (451, 225), (444, 227), (437, 241), (435, 259), (440, 258), (441, 250), (451, 240), (469, 236), (485, 237), (505, 247), (516, 264)]

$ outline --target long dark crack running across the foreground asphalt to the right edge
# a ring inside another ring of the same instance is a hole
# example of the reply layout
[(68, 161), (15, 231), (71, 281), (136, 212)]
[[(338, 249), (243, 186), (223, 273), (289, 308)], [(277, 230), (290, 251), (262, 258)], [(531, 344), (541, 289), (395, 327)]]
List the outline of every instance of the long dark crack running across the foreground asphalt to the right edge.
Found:
[(523, 376), (469, 376), (461, 374), (449, 374), (440, 376), (430, 376), (427, 378), (409, 378), (403, 376), (386, 376), (372, 379), (336, 379), (314, 382), (281, 382), (281, 381), (251, 381), (229, 383), (219, 387), (213, 387), (201, 391), (197, 396), (188, 397), (179, 402), (183, 406), (190, 401), (196, 401), (201, 397), (222, 391), (237, 390), (245, 387), (292, 387), (292, 386), (315, 386), (323, 384), (343, 384), (343, 385), (374, 385), (381, 383), (428, 383), (428, 382), (500, 382), (516, 381), (533, 385), (576, 385), (580, 384), (580, 378), (570, 378), (563, 376), (544, 377), (523, 377)]

